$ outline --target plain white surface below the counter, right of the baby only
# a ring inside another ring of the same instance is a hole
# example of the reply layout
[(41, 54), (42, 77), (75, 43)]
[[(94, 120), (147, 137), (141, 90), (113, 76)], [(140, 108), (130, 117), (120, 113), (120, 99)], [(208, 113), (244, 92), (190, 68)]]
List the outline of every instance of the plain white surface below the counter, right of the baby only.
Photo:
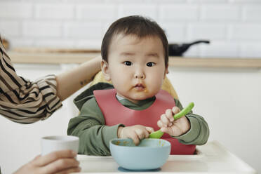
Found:
[(261, 69), (177, 69), (168, 75), (183, 105), (194, 102), (210, 140), (261, 173)]

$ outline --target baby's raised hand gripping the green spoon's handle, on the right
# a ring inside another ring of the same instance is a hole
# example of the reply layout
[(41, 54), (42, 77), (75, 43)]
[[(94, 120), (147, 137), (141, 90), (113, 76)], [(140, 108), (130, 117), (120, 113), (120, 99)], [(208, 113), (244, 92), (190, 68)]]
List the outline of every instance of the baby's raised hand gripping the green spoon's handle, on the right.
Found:
[(173, 115), (178, 114), (180, 108), (173, 107), (166, 109), (165, 114), (161, 115), (161, 119), (157, 122), (163, 133), (168, 133), (171, 136), (180, 136), (190, 129), (190, 123), (186, 116), (174, 120)]

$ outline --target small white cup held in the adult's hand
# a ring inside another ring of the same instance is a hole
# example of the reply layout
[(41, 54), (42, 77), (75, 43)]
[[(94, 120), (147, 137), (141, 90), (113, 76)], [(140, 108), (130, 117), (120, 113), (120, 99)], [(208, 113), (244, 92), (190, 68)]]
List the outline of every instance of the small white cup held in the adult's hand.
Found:
[(79, 138), (75, 136), (48, 136), (41, 138), (41, 154), (71, 149), (78, 152)]

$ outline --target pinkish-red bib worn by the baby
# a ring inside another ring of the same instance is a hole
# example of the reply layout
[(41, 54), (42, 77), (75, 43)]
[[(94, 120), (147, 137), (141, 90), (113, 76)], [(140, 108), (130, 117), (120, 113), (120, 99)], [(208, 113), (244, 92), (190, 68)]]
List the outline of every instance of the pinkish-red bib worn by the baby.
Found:
[[(93, 94), (105, 117), (105, 124), (107, 126), (114, 126), (119, 123), (125, 126), (140, 124), (152, 127), (156, 131), (159, 129), (157, 121), (159, 121), (161, 114), (164, 114), (166, 109), (175, 107), (173, 97), (163, 90), (156, 94), (156, 100), (150, 107), (140, 111), (121, 105), (116, 99), (115, 89), (95, 90)], [(195, 145), (184, 145), (167, 133), (164, 133), (162, 138), (171, 143), (170, 154), (194, 154), (195, 152)]]

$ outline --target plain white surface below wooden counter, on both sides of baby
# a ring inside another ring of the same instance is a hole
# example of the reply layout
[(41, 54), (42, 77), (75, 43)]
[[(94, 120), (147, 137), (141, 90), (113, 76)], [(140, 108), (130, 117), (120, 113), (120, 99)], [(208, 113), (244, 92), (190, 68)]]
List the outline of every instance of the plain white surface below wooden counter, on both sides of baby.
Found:
[[(68, 67), (15, 65), (18, 74), (29, 79), (58, 74)], [(194, 102), (194, 112), (208, 121), (209, 140), (221, 142), (261, 172), (261, 70), (170, 67), (168, 78), (178, 92), (182, 105)], [(65, 100), (64, 107), (46, 121), (22, 125), (0, 116), (2, 173), (13, 172), (39, 154), (41, 137), (66, 135), (69, 119), (78, 113), (72, 98)]]

